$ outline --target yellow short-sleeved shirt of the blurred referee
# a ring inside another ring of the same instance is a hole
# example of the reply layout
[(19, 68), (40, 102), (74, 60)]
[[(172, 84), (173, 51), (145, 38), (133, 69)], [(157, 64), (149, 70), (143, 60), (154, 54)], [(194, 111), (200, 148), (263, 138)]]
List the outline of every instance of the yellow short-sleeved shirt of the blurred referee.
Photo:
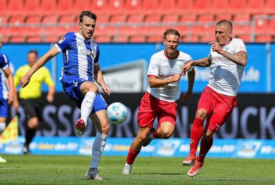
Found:
[[(30, 69), (29, 64), (21, 66), (14, 75), (14, 86), (17, 88), (19, 84), (19, 80), (25, 73), (27, 73)], [(41, 97), (41, 86), (45, 82), (47, 86), (54, 86), (54, 82), (52, 81), (52, 77), (50, 75), (50, 71), (42, 66), (41, 69), (37, 70), (34, 75), (30, 78), (30, 83), (28, 86), (24, 88), (20, 88), (19, 90), (19, 98), (20, 99), (39, 99)]]

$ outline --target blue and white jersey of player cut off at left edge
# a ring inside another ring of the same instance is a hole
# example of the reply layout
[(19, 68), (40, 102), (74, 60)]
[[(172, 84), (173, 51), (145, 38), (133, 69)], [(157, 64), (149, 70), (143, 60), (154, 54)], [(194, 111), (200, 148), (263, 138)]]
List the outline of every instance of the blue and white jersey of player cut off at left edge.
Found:
[(0, 52), (0, 99), (8, 99), (8, 85), (6, 83), (5, 74), (3, 70), (8, 68), (9, 59), (5, 54)]

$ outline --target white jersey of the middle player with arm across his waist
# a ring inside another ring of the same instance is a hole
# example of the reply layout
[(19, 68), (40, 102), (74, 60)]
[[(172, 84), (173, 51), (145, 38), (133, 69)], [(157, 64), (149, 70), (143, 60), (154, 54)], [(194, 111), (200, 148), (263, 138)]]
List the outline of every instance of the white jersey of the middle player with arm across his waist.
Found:
[[(190, 60), (192, 60), (191, 56), (181, 51), (179, 51), (179, 56), (175, 59), (167, 58), (164, 50), (159, 51), (151, 57), (147, 75), (155, 76), (159, 79), (170, 78), (175, 74), (181, 74), (181, 67)], [(189, 71), (192, 71), (192, 68)], [(147, 92), (157, 99), (168, 102), (176, 101), (181, 94), (179, 81), (159, 88), (148, 86)]]

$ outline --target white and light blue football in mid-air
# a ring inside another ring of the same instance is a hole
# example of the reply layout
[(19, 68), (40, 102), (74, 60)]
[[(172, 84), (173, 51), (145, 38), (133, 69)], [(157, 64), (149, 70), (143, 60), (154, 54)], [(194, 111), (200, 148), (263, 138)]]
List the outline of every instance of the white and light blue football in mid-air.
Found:
[(127, 108), (120, 102), (111, 103), (106, 111), (109, 123), (118, 125), (123, 123), (128, 116)]

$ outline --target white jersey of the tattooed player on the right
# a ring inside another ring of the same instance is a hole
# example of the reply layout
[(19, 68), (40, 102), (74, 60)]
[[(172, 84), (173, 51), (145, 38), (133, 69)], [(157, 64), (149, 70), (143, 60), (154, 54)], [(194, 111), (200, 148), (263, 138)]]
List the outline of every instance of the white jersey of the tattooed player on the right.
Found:
[[(247, 53), (243, 40), (239, 38), (232, 38), (231, 42), (222, 46), (221, 49), (232, 54), (242, 51)], [(212, 48), (208, 57), (212, 64), (207, 86), (222, 95), (236, 96), (240, 88), (244, 67), (212, 51)]]

